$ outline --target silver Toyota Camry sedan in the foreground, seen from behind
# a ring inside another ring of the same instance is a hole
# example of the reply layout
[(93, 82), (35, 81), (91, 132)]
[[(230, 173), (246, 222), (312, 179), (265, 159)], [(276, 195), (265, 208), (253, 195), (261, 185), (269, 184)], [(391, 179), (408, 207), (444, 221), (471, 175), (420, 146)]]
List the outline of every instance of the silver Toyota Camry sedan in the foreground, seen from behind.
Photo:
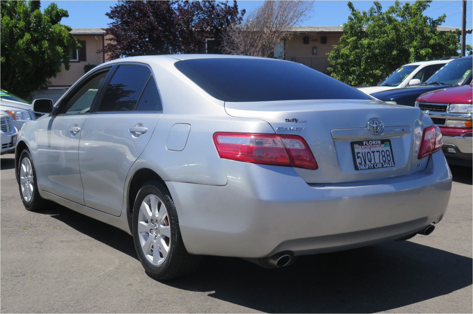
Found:
[(201, 255), (280, 267), (427, 235), (450, 195), (427, 115), (294, 62), (117, 59), (33, 110), (16, 150), (26, 209), (53, 201), (127, 231), (159, 280)]

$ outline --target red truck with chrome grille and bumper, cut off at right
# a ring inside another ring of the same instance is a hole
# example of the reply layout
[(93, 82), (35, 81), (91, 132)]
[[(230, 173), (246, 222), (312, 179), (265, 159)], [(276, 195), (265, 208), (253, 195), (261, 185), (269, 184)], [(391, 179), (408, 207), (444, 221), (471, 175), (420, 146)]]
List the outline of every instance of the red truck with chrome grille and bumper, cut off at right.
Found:
[(472, 167), (472, 85), (420, 95), (415, 103), (440, 127), (442, 150), (450, 164)]

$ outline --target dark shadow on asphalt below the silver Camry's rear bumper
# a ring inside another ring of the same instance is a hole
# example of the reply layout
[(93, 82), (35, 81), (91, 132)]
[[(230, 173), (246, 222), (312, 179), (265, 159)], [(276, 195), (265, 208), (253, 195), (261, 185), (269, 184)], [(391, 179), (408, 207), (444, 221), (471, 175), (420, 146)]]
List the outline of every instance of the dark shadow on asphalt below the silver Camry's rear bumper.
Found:
[(163, 283), (266, 313), (375, 313), (471, 285), (472, 259), (392, 241), (280, 269), (209, 256), (193, 276)]

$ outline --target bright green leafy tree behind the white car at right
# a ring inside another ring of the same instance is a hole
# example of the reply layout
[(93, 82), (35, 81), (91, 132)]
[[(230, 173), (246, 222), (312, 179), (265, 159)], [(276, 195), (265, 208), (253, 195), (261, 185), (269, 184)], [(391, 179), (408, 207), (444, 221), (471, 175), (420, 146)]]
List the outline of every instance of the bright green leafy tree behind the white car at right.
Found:
[(340, 45), (327, 53), (332, 77), (351, 85), (376, 85), (403, 64), (457, 56), (460, 31), (437, 31), (446, 16), (423, 15), (430, 2), (395, 1), (385, 12), (377, 1), (368, 12), (348, 2), (351, 13)]

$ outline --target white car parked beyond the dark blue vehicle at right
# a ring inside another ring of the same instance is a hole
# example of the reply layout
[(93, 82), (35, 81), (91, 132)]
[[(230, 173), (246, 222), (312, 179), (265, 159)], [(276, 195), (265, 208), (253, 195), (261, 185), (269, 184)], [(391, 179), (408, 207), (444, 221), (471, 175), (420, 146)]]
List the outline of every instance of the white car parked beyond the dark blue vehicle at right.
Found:
[(363, 93), (371, 94), (388, 89), (418, 86), (427, 81), (438, 69), (452, 60), (454, 59), (420, 61), (405, 64), (391, 73), (391, 75), (379, 85), (357, 88)]

